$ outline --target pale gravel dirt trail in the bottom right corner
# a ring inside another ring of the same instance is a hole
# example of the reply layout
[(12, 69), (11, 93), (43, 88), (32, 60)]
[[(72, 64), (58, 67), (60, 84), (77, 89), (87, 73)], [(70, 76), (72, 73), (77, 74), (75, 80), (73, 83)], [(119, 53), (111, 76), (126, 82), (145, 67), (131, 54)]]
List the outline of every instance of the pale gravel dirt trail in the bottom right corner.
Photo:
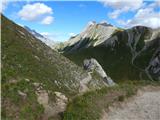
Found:
[(160, 120), (160, 87), (145, 87), (104, 112), (101, 120)]

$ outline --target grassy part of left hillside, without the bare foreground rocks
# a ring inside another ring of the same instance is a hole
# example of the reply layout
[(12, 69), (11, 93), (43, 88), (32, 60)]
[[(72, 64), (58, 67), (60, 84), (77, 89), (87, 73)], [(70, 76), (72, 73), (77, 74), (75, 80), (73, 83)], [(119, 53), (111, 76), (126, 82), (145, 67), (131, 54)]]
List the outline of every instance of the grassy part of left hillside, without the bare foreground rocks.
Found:
[[(50, 91), (50, 99), (54, 99), (54, 91), (72, 96), (78, 92), (77, 81), (86, 74), (74, 63), (34, 38), (24, 28), (4, 16), (1, 18), (2, 118), (41, 119), (44, 108), (37, 102), (33, 83), (42, 83), (43, 89)], [(59, 82), (59, 86), (55, 84), (55, 80)], [(20, 96), (18, 91), (26, 93), (27, 98)]]

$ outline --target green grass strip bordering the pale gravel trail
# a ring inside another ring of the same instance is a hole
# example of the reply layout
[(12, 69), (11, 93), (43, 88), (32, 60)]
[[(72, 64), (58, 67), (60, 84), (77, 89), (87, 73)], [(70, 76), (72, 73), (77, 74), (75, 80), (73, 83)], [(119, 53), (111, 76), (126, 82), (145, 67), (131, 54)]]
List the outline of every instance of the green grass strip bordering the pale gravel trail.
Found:
[(160, 85), (151, 81), (123, 81), (114, 87), (87, 92), (73, 99), (67, 106), (63, 120), (98, 120), (103, 110), (114, 102), (122, 102), (146, 85)]

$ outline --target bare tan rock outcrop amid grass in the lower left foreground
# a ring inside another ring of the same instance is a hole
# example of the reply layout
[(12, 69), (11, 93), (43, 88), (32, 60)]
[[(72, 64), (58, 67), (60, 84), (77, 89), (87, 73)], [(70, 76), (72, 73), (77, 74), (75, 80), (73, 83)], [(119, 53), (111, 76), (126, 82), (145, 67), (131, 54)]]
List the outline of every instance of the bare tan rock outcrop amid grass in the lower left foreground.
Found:
[(44, 107), (43, 120), (50, 117), (57, 116), (59, 113), (64, 112), (68, 98), (61, 92), (54, 92), (55, 101), (49, 101), (49, 91), (43, 89), (41, 83), (33, 83), (36, 88), (37, 101)]

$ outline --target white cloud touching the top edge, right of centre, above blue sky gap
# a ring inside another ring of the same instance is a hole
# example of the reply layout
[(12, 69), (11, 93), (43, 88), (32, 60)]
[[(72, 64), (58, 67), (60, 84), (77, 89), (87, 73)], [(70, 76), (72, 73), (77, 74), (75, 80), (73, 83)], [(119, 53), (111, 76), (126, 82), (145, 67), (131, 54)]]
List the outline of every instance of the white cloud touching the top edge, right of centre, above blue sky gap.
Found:
[(99, 0), (105, 6), (113, 9), (108, 16), (112, 19), (118, 18), (123, 12), (135, 11), (143, 5), (143, 0)]

